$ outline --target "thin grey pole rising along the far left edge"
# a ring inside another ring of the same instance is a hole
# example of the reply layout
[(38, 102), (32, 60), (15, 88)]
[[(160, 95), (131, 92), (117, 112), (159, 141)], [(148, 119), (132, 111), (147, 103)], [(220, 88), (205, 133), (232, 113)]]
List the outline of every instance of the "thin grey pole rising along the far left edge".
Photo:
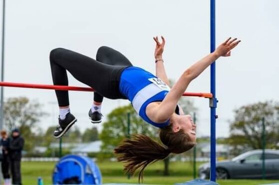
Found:
[[(1, 81), (4, 81), (4, 42), (5, 41), (5, 0), (3, 0), (3, 15), (2, 15), (2, 53), (1, 53)], [(3, 104), (4, 104), (4, 88), (1, 87), (1, 97), (0, 97), (0, 130), (3, 129), (4, 114), (3, 114)]]

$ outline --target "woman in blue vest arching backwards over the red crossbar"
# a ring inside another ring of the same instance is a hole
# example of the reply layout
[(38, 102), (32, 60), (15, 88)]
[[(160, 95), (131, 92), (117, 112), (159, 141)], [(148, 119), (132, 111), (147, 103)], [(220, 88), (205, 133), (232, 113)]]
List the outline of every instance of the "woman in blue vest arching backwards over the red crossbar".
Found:
[[(50, 66), (54, 85), (68, 86), (66, 71), (78, 81), (93, 88), (94, 101), (89, 110), (92, 123), (102, 119), (103, 97), (128, 99), (139, 116), (147, 123), (160, 128), (159, 137), (163, 145), (143, 134), (134, 134), (125, 139), (114, 150), (118, 161), (125, 163), (125, 172), (133, 174), (153, 162), (163, 160), (170, 153), (180, 154), (196, 144), (196, 125), (190, 115), (185, 115), (177, 104), (188, 85), (219, 57), (231, 56), (231, 50), (240, 40), (228, 38), (213, 53), (205, 56), (186, 69), (172, 88), (164, 69), (162, 58), (165, 39), (162, 43), (154, 37), (156, 76), (142, 68), (134, 67), (120, 52), (100, 47), (96, 60), (63, 48), (50, 52)], [(67, 91), (55, 91), (59, 105), (59, 126), (53, 135), (62, 137), (76, 122), (70, 112)]]

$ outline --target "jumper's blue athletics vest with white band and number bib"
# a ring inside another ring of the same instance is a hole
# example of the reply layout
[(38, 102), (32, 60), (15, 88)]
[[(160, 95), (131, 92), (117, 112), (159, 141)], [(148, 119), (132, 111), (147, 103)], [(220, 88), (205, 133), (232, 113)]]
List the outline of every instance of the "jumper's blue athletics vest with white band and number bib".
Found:
[(155, 123), (146, 115), (147, 105), (154, 101), (163, 101), (170, 90), (161, 79), (144, 69), (128, 67), (121, 74), (119, 90), (131, 101), (134, 109), (144, 121), (159, 128), (169, 125), (169, 120), (165, 123)]

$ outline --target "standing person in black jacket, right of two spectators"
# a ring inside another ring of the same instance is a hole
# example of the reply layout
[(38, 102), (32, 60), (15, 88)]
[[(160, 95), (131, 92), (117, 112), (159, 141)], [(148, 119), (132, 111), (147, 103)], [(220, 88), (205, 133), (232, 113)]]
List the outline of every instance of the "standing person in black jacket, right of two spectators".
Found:
[(10, 168), (13, 185), (21, 185), (20, 160), (23, 145), (24, 139), (20, 136), (19, 130), (17, 128), (13, 129), (9, 143)]

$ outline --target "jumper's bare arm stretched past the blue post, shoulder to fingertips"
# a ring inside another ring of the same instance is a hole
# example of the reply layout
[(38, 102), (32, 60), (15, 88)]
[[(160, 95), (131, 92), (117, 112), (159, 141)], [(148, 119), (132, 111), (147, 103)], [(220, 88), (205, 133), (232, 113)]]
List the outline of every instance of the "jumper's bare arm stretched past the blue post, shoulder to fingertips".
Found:
[(227, 39), (213, 53), (202, 58), (190, 68), (188, 68), (179, 80), (172, 87), (165, 99), (158, 105), (149, 104), (147, 107), (148, 117), (157, 123), (168, 120), (175, 111), (177, 102), (181, 95), (186, 91), (192, 80), (197, 78), (208, 66), (210, 66), (219, 57), (231, 56), (231, 50), (240, 43), (237, 39)]

